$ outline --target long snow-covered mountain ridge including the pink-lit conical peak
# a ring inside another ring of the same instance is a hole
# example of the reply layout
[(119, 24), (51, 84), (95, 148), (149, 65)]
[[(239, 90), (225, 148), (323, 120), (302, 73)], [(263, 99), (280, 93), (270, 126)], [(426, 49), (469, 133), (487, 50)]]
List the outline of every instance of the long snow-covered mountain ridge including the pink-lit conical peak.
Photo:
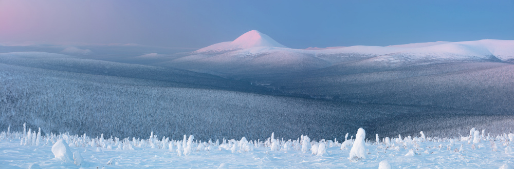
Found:
[(291, 49), (259, 31), (162, 63), (217, 74), (309, 71), (345, 64), (391, 69), (446, 62), (514, 62), (514, 40), (437, 41), (406, 45)]

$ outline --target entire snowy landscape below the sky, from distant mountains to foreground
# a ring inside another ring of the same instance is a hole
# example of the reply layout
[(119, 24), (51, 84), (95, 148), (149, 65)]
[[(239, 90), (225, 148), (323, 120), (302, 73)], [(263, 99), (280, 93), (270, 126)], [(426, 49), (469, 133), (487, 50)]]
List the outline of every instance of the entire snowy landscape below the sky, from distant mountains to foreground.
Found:
[[(511, 168), (514, 40), (0, 45), (0, 168)], [(421, 132), (423, 131), (423, 132)]]

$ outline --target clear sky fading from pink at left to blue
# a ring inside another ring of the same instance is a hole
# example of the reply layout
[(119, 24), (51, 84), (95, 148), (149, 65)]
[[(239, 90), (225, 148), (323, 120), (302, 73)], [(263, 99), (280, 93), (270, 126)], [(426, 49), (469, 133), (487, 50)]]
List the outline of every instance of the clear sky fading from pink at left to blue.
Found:
[(514, 39), (514, 1), (0, 0), (0, 43), (198, 49), (259, 30), (303, 49)]

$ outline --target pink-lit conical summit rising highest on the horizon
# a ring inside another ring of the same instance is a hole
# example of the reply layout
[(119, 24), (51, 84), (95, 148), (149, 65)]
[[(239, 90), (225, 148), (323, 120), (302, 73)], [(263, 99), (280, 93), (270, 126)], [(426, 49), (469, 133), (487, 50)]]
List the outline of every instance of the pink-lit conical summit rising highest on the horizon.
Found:
[(214, 44), (202, 49), (197, 52), (206, 51), (223, 51), (223, 50), (236, 50), (236, 49), (248, 49), (253, 47), (278, 47), (287, 48), (286, 46), (278, 43), (268, 35), (261, 33), (256, 30), (251, 30), (245, 34), (237, 37), (234, 41), (226, 41), (223, 43)]

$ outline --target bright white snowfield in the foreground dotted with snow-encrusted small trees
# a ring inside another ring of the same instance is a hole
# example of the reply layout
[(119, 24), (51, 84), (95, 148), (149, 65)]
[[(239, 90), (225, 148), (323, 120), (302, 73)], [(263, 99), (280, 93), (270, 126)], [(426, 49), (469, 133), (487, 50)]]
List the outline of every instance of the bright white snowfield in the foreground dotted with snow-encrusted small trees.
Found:
[(31, 130), (3, 132), (0, 168), (379, 168), (379, 165), (387, 168), (388, 164), (392, 168), (499, 168), (514, 165), (510, 145), (514, 134), (493, 137), (472, 129), (469, 136), (460, 138), (431, 138), (420, 133), (419, 137), (378, 137), (378, 144), (375, 140), (363, 140), (363, 134), (364, 130), (359, 129), (357, 140), (348, 136), (346, 141), (314, 141), (307, 136), (282, 140), (271, 135), (264, 141), (241, 138), (205, 142), (194, 136), (184, 136), (183, 140), (155, 135), (149, 139), (119, 139), (68, 134), (41, 136)]

